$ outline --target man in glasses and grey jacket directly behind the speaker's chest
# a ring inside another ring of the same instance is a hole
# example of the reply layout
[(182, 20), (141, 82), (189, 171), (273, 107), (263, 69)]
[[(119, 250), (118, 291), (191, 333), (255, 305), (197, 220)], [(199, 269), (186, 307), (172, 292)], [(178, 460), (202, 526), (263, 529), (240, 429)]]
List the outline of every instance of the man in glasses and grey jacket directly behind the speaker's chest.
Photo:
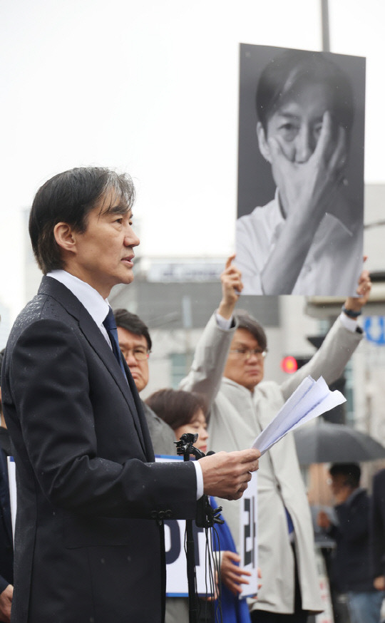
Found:
[[(118, 328), (119, 348), (140, 393), (148, 385), (150, 371), (148, 358), (150, 356), (151, 341), (148, 326), (137, 316), (126, 309), (114, 309), (113, 312)], [(145, 419), (147, 421), (154, 453), (176, 455), (175, 436), (170, 426), (158, 418), (150, 407), (142, 401)]]

